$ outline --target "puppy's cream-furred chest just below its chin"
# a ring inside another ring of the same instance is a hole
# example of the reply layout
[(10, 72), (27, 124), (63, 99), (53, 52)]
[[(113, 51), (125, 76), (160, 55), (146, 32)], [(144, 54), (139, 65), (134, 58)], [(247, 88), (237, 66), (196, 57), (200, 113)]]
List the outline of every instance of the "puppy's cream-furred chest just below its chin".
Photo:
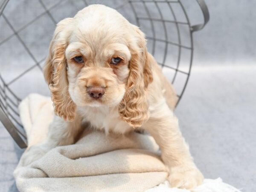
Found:
[(104, 130), (106, 133), (125, 134), (133, 130), (130, 125), (120, 119), (117, 109), (83, 108), (80, 111), (84, 120), (90, 122), (93, 128)]

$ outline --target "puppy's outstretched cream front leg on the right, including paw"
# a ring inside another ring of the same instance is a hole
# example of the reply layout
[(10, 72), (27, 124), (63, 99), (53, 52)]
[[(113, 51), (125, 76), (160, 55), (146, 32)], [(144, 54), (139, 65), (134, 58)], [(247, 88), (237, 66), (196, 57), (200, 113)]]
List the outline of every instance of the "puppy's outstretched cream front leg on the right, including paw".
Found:
[(193, 162), (173, 112), (166, 102), (152, 106), (150, 112), (151, 116), (143, 127), (150, 132), (160, 146), (163, 162), (169, 168), (171, 186), (193, 189), (200, 185), (204, 176)]

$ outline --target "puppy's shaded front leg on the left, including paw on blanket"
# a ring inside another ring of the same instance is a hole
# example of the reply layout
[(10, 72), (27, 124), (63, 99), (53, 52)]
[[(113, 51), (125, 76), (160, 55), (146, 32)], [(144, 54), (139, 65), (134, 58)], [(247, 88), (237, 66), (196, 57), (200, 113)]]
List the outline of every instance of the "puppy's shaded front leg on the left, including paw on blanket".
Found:
[(22, 157), (22, 165), (26, 166), (38, 160), (47, 151), (61, 145), (70, 145), (75, 142), (79, 129), (81, 128), (81, 118), (76, 117), (73, 122), (65, 122), (61, 117), (55, 116), (49, 126), (47, 138), (43, 143), (32, 145), (27, 149)]

